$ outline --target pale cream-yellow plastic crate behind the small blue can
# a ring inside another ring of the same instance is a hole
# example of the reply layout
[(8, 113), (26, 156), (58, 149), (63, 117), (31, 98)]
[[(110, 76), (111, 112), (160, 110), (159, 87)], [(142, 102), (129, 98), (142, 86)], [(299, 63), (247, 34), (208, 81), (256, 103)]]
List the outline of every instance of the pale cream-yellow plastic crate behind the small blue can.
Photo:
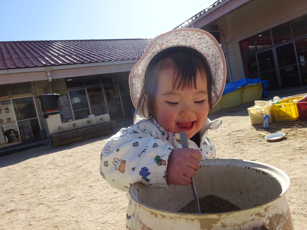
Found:
[[(251, 119), (252, 125), (260, 125), (263, 124), (263, 116), (268, 114), (270, 116), (270, 123), (274, 121), (274, 114), (272, 111), (272, 105), (268, 105), (269, 103), (266, 101), (255, 101), (255, 105), (247, 108), (248, 115)], [(255, 106), (261, 106), (256, 107)], [(264, 106), (266, 105), (266, 106)]]

